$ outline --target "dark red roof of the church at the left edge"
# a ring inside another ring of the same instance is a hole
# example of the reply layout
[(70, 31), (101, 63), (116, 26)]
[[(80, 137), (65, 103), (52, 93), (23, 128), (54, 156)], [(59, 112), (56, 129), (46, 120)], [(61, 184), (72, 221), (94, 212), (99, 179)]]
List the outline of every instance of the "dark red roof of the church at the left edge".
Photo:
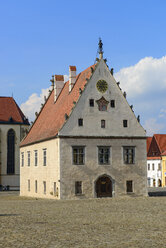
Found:
[(29, 125), (28, 119), (13, 99), (13, 97), (0, 97), (0, 123), (18, 123)]

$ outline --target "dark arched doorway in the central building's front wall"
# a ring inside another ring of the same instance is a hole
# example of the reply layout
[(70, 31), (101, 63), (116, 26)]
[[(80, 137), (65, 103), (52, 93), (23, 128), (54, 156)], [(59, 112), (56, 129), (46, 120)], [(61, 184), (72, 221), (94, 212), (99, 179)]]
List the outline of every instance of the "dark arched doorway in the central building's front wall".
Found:
[(112, 181), (108, 176), (101, 176), (96, 181), (97, 197), (112, 197)]

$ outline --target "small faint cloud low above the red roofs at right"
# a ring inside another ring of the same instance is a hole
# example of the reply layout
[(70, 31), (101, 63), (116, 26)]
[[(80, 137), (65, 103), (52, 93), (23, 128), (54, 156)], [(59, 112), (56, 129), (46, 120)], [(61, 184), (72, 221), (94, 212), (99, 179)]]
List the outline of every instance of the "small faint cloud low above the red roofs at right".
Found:
[(147, 136), (153, 136), (153, 134), (162, 132), (164, 124), (157, 123), (155, 118), (150, 118), (145, 121), (144, 128), (147, 131)]

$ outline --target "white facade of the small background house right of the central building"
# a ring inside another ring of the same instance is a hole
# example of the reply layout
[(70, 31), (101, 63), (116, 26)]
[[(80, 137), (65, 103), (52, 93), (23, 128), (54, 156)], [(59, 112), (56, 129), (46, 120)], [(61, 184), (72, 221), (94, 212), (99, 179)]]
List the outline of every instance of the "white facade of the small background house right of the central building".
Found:
[(162, 160), (147, 160), (147, 185), (148, 187), (161, 187), (162, 183)]

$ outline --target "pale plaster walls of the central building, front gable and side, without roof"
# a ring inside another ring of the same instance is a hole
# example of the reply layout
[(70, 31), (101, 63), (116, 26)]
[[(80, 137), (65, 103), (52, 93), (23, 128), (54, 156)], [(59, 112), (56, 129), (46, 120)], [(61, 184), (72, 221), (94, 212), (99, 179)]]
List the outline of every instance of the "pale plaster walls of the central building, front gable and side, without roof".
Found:
[[(96, 83), (101, 79), (108, 84), (105, 93), (96, 88)], [(106, 111), (99, 111), (96, 101), (101, 97), (109, 102)], [(89, 106), (90, 99), (94, 100), (93, 107)], [(111, 100), (115, 101), (113, 108), (110, 106)], [(81, 126), (78, 125), (79, 119), (83, 120)], [(101, 128), (101, 120), (105, 121), (105, 128)], [(127, 127), (123, 125), (124, 120), (127, 120)], [(82, 147), (83, 164), (73, 162), (75, 147)], [(108, 164), (99, 163), (100, 147), (109, 149)], [(129, 164), (124, 162), (126, 147), (131, 148), (133, 152), (133, 162)], [(43, 166), (43, 149), (47, 149), (46, 166)], [(38, 151), (38, 166), (34, 165), (35, 150)], [(28, 151), (31, 154), (30, 166), (27, 165)], [(111, 196), (126, 195), (129, 182), (132, 185), (132, 193), (147, 195), (145, 130), (103, 59), (98, 62), (56, 137), (21, 145), (20, 152), (24, 154), (24, 166), (21, 166), (20, 171), (22, 196), (55, 199), (93, 198), (97, 197), (96, 188), (100, 178), (110, 180)], [(81, 183), (80, 194), (75, 192), (76, 182)]]

